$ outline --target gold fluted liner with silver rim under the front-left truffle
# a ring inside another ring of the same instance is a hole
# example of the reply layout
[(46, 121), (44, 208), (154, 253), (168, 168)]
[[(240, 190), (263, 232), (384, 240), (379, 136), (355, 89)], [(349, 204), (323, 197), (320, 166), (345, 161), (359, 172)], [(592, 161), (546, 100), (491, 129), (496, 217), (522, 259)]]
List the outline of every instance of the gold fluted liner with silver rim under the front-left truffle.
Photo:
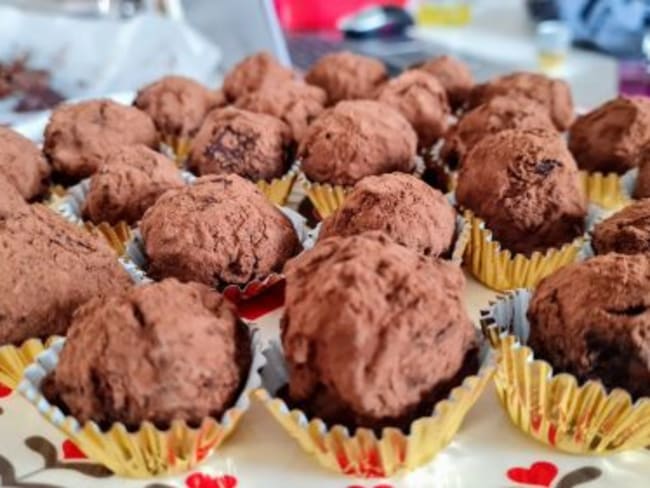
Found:
[(42, 395), (40, 385), (58, 362), (65, 339), (55, 341), (25, 370), (18, 386), (20, 393), (51, 424), (74, 442), (90, 459), (103, 464), (115, 474), (131, 478), (172, 475), (192, 469), (210, 456), (235, 430), (250, 407), (250, 394), (262, 384), (259, 370), (266, 358), (261, 353), (257, 334), (252, 337), (253, 360), (244, 388), (235, 404), (220, 420), (208, 417), (193, 428), (175, 420), (167, 430), (144, 422), (135, 432), (121, 423), (102, 431), (95, 422), (81, 425), (66, 416)]

